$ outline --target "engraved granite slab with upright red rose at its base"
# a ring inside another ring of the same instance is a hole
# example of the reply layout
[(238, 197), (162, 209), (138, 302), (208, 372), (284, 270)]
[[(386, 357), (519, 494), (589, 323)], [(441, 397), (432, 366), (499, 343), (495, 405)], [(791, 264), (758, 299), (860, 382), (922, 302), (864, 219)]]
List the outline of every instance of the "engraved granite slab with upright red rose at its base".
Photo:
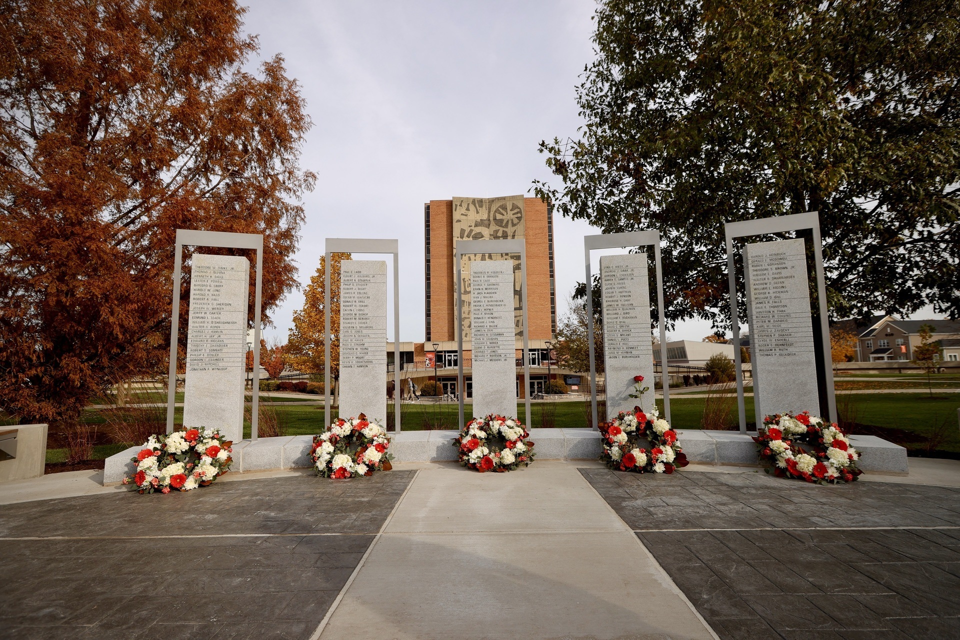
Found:
[[(600, 258), (603, 295), (604, 368), (607, 415), (654, 407), (654, 352), (650, 333), (650, 284), (647, 254), (605, 255)], [(650, 391), (632, 398), (634, 376), (643, 376)]]

